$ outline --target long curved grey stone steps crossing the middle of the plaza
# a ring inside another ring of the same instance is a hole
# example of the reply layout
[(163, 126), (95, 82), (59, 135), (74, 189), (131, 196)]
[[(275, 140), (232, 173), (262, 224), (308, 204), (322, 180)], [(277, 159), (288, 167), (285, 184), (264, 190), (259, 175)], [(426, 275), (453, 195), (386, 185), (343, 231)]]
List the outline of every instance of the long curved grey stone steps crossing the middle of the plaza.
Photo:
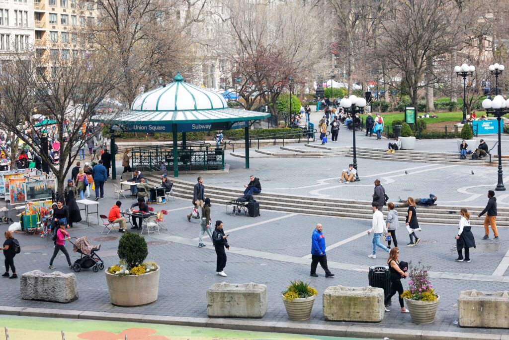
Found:
[[(146, 175), (150, 182), (158, 182), (160, 177), (157, 175)], [(174, 183), (174, 193), (176, 197), (192, 199), (194, 183), (172, 178)], [(243, 190), (230, 189), (218, 186), (205, 186), (206, 196), (210, 197), (215, 203), (218, 210), (222, 209), (219, 204), (231, 201), (243, 195)], [(267, 210), (273, 210), (285, 213), (301, 213), (321, 216), (346, 217), (361, 220), (372, 219), (373, 212), (371, 210), (371, 201), (348, 200), (336, 198), (320, 198), (285, 195), (277, 193), (262, 192), (255, 196), (260, 202), (260, 207)], [(218, 204), (219, 203), (219, 204)], [(430, 207), (417, 206), (418, 220), (422, 224), (441, 224), (441, 225), (458, 225), (460, 220), (460, 208), (468, 208), (472, 226), (482, 226), (484, 217), (477, 218), (476, 215), (483, 210), (484, 207), (479, 206), (452, 206), (452, 205), (435, 205)], [(397, 208), (399, 212), (400, 222), (404, 222), (407, 208)], [(384, 207), (386, 215), (387, 208)], [(370, 222), (366, 221), (366, 226)], [(509, 208), (499, 207), (497, 216), (497, 226), (509, 226)]]

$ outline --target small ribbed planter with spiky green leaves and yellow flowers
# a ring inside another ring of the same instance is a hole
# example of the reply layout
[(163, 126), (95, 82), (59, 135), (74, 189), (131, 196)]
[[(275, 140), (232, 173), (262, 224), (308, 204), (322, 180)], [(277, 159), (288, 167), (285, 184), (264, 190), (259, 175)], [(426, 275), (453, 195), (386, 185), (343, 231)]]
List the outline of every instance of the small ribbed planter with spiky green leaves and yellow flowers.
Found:
[(288, 313), (288, 318), (295, 321), (308, 320), (318, 292), (304, 281), (291, 281), (281, 297)]

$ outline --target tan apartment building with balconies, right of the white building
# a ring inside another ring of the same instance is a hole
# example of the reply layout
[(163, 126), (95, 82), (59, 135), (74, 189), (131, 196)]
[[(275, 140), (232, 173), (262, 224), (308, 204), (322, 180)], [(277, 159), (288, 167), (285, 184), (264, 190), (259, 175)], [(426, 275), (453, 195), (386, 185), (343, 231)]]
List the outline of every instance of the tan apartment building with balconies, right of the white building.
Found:
[(56, 59), (59, 55), (66, 58), (71, 54), (84, 54), (88, 46), (80, 31), (87, 23), (95, 21), (93, 3), (84, 0), (33, 1), (37, 56)]

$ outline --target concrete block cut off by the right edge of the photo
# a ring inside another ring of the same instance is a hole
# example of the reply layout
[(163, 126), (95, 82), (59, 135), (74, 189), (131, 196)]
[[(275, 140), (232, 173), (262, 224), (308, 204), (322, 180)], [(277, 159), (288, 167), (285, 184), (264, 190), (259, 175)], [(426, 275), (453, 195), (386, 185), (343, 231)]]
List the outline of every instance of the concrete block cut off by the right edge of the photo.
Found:
[(460, 327), (509, 328), (509, 292), (461, 291)]

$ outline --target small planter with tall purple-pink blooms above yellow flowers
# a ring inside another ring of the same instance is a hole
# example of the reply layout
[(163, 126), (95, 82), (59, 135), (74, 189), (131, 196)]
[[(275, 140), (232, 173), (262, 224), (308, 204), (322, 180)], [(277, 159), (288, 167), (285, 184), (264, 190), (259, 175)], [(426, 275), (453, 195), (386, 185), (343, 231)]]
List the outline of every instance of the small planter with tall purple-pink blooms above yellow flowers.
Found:
[(409, 263), (409, 287), (401, 295), (410, 311), (412, 322), (416, 324), (431, 324), (435, 321), (440, 302), (440, 296), (433, 290), (428, 270), (429, 267), (422, 266), (420, 261), (417, 266)]

